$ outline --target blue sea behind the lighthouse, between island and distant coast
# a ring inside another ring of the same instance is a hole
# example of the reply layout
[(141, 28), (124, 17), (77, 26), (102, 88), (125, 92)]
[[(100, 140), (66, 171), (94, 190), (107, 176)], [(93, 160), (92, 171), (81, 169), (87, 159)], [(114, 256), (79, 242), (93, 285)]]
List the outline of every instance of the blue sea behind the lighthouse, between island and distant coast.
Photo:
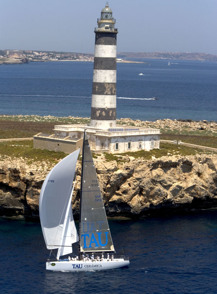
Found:
[[(216, 62), (143, 61), (117, 64), (117, 118), (217, 120)], [(93, 62), (1, 65), (0, 114), (90, 117), (92, 78)]]

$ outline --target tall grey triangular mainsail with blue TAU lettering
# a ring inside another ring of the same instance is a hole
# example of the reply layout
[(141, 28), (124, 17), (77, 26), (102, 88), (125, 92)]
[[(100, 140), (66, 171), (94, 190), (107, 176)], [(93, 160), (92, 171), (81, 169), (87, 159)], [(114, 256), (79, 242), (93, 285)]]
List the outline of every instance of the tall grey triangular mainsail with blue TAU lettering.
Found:
[(114, 251), (86, 132), (82, 157), (80, 252)]

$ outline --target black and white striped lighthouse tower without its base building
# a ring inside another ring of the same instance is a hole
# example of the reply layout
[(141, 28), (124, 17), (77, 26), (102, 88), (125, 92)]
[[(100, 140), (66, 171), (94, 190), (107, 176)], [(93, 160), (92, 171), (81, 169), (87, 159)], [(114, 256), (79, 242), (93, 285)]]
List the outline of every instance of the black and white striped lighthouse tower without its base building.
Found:
[(95, 28), (95, 52), (93, 91), (91, 101), (91, 127), (116, 127), (116, 37), (115, 19), (112, 10), (106, 7), (101, 11)]

